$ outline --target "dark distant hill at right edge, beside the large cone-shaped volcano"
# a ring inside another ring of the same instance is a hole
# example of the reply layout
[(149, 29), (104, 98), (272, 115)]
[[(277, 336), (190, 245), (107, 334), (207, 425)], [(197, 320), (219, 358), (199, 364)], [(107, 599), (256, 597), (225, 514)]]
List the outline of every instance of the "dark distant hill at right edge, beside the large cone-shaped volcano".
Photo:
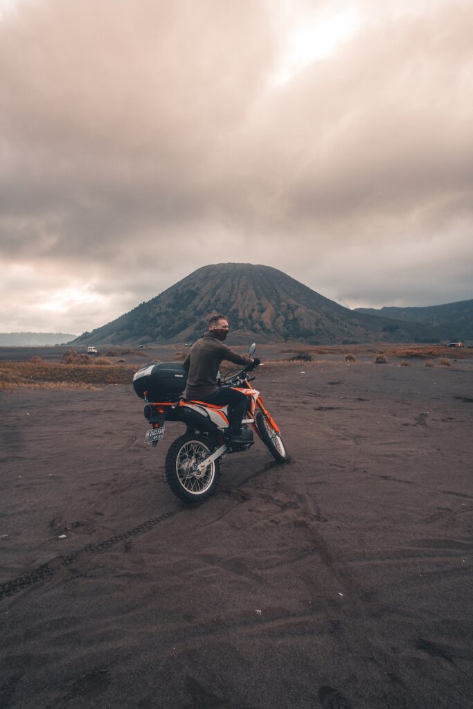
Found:
[(357, 313), (365, 313), (380, 318), (396, 318), (406, 323), (421, 323), (440, 340), (473, 340), (473, 300), (445, 303), (424, 308), (356, 308)]

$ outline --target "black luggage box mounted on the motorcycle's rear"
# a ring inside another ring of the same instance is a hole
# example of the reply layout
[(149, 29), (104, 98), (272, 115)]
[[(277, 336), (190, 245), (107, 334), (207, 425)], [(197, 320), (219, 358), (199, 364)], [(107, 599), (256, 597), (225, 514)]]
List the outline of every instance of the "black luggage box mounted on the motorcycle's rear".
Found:
[(166, 401), (181, 396), (186, 381), (187, 370), (179, 362), (151, 362), (133, 376), (133, 388), (140, 398)]

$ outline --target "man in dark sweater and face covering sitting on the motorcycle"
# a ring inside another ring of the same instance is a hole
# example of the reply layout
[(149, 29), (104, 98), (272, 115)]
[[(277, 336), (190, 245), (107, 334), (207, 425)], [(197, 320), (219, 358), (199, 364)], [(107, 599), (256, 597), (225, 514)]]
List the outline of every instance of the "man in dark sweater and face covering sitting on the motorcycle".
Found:
[(214, 315), (208, 320), (208, 332), (204, 333), (191, 348), (182, 363), (187, 369), (187, 388), (184, 396), (196, 401), (206, 401), (216, 406), (228, 405), (231, 440), (245, 443), (251, 440), (250, 431), (242, 431), (241, 422), (245, 415), (247, 397), (230, 386), (217, 386), (217, 374), (223, 359), (235, 364), (257, 365), (259, 359), (252, 359), (230, 350), (223, 340), (228, 335), (228, 320), (223, 315)]

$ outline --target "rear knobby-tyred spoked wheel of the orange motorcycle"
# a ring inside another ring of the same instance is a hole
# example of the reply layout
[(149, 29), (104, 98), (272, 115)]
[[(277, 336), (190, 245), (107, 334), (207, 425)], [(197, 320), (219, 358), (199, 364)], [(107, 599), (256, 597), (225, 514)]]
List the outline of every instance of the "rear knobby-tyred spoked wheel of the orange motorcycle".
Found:
[(196, 503), (215, 491), (220, 467), (218, 460), (199, 471), (201, 463), (212, 452), (211, 443), (201, 435), (179, 436), (169, 447), (165, 471), (169, 487), (184, 502)]

